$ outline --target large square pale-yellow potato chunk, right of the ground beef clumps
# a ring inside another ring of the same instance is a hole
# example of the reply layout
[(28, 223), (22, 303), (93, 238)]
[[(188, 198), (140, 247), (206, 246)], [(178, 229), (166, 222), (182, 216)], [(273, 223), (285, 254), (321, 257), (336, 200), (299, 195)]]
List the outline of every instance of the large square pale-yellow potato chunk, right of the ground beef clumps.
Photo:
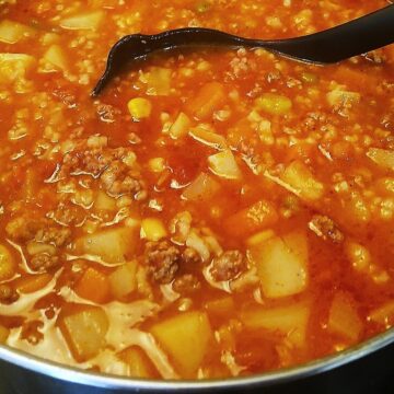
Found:
[(308, 286), (308, 243), (303, 234), (274, 237), (251, 248), (267, 298), (300, 293)]

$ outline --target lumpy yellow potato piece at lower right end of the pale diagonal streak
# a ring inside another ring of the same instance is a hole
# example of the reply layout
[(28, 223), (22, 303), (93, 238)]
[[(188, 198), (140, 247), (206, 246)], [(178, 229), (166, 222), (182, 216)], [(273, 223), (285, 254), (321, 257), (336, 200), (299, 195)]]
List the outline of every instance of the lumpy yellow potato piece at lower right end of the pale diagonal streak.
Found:
[(324, 195), (324, 185), (314, 177), (301, 161), (290, 163), (281, 179), (294, 188), (300, 197), (308, 200), (317, 200)]

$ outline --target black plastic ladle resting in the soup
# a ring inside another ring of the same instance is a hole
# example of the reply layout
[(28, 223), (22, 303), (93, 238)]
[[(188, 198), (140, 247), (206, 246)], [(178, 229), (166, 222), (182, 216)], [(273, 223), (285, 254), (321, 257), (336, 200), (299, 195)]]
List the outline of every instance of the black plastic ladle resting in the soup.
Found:
[(111, 49), (106, 70), (94, 88), (99, 95), (125, 65), (158, 50), (196, 46), (265, 48), (281, 56), (325, 65), (394, 43), (394, 4), (315, 34), (275, 40), (243, 38), (211, 28), (178, 28), (155, 35), (132, 34)]

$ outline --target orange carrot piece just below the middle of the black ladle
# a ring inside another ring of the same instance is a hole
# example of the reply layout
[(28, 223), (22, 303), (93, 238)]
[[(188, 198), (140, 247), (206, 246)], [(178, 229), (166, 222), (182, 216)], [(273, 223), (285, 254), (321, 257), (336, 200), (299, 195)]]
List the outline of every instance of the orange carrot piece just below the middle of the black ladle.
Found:
[(219, 82), (205, 84), (187, 106), (187, 112), (199, 120), (207, 119), (225, 100), (224, 88)]

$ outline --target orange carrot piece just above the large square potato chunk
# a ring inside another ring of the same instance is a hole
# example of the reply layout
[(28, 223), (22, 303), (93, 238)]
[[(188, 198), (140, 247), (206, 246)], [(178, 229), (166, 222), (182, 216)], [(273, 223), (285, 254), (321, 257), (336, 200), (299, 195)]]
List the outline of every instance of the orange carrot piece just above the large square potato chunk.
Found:
[(224, 221), (224, 229), (229, 234), (244, 236), (266, 229), (277, 221), (278, 213), (275, 206), (267, 200), (259, 200), (228, 218)]

